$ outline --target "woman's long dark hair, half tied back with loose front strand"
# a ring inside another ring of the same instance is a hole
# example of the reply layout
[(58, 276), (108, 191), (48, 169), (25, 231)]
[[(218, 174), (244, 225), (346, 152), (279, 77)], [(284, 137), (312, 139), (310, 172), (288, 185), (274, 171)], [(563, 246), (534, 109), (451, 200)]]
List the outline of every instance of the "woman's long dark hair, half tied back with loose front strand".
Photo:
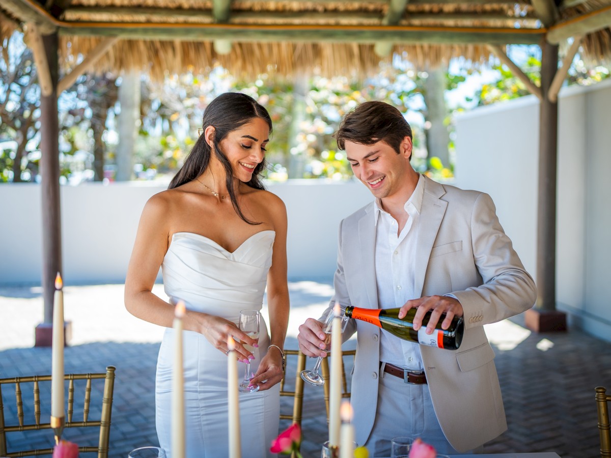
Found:
[[(268, 123), (269, 133), (271, 134), (272, 125), (268, 111), (251, 96), (239, 92), (226, 92), (211, 101), (203, 112), (202, 135), (197, 139), (191, 153), (189, 153), (185, 159), (185, 164), (183, 164), (180, 170), (178, 170), (178, 173), (172, 178), (170, 186), (168, 186), (167, 189), (174, 189), (175, 187), (181, 186), (181, 184), (189, 183), (189, 181), (195, 180), (208, 169), (212, 148), (206, 142), (203, 133), (208, 126), (213, 126), (214, 137), (212, 143), (214, 154), (216, 154), (216, 158), (221, 161), (221, 164), (223, 164), (225, 168), (225, 183), (227, 184), (227, 191), (229, 192), (229, 198), (231, 199), (233, 208), (238, 216), (248, 224), (260, 224), (250, 221), (242, 213), (240, 205), (238, 205), (238, 199), (236, 198), (235, 186), (233, 185), (233, 170), (231, 163), (220, 148), (221, 141), (225, 139), (229, 133), (251, 122), (253, 118), (262, 118)], [(257, 164), (252, 172), (251, 181), (246, 184), (255, 189), (265, 189), (260, 178), (263, 169), (265, 169), (265, 158), (263, 158), (260, 164)]]

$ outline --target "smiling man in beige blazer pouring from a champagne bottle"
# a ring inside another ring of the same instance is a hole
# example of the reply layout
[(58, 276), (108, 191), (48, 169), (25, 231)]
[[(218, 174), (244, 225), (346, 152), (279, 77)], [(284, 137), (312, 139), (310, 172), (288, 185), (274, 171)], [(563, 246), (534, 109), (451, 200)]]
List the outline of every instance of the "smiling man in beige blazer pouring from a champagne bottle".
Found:
[[(354, 175), (375, 197), (340, 225), (332, 299), (342, 306), (417, 307), (426, 332), (464, 318), (457, 351), (401, 340), (364, 321), (351, 387), (356, 442), (389, 456), (390, 439), (420, 437), (440, 453), (481, 451), (507, 429), (494, 351), (483, 325), (532, 307), (536, 289), (487, 194), (436, 183), (411, 167), (412, 133), (389, 104), (360, 104), (335, 133)], [(331, 313), (327, 308), (323, 316)], [(445, 313), (445, 318), (442, 314)], [(324, 355), (320, 321), (299, 327), (299, 348)], [(406, 370), (405, 370), (406, 369)]]

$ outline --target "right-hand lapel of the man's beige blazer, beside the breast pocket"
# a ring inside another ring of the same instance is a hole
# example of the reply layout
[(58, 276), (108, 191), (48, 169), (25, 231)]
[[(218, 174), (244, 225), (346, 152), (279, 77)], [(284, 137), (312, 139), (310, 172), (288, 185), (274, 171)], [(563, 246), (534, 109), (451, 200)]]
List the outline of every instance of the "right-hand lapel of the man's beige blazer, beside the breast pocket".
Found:
[(445, 194), (444, 187), (436, 181), (426, 178), (426, 176), (425, 180), (418, 240), (416, 242), (414, 297), (422, 296), (426, 267), (428, 267), (431, 249), (433, 249), (439, 226), (442, 219), (444, 219), (445, 209), (448, 206), (445, 200), (439, 198)]

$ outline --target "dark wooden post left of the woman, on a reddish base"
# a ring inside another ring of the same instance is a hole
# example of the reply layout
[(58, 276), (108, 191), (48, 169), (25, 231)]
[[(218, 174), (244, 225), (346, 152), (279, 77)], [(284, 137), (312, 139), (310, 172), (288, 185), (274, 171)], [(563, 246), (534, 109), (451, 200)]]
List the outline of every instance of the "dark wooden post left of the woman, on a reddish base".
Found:
[(44, 321), (36, 327), (35, 346), (51, 346), (55, 276), (62, 272), (59, 205), (59, 121), (57, 118), (57, 32), (43, 39), (51, 76), (51, 94), (40, 98), (40, 175), (42, 183), (42, 290)]

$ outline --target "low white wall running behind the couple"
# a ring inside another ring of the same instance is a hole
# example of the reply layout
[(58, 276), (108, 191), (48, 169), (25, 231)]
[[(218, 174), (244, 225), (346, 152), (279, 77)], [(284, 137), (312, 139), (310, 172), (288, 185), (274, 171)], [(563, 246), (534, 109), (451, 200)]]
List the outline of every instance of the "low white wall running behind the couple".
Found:
[[(287, 205), (289, 277), (332, 277), (340, 220), (370, 202), (370, 192), (357, 181), (291, 180), (267, 187)], [(62, 186), (65, 284), (122, 283), (142, 208), (164, 189), (150, 183)], [(40, 192), (37, 184), (0, 186), (0, 285), (40, 284)]]

